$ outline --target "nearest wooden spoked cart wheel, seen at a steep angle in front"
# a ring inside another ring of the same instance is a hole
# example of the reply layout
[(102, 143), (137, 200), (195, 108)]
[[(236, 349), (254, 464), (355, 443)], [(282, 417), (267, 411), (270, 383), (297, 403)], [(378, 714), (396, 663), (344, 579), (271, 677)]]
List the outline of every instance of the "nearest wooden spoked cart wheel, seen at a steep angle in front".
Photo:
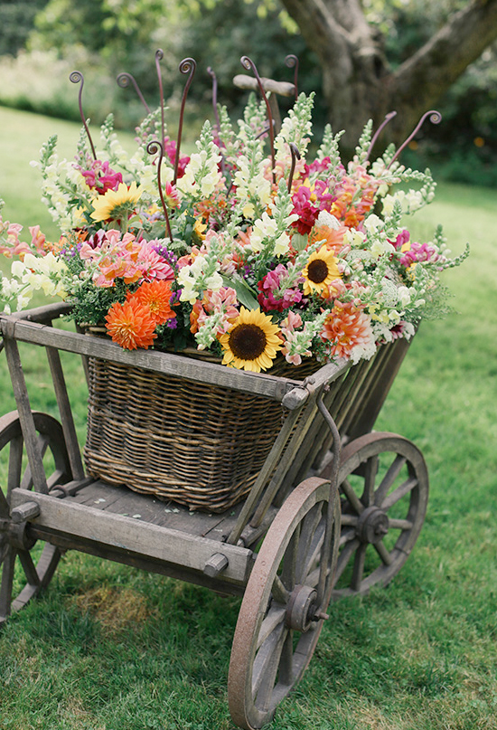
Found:
[(306, 479), (267, 531), (241, 603), (228, 678), (236, 725), (268, 723), (302, 677), (327, 618), (339, 537), (336, 487)]

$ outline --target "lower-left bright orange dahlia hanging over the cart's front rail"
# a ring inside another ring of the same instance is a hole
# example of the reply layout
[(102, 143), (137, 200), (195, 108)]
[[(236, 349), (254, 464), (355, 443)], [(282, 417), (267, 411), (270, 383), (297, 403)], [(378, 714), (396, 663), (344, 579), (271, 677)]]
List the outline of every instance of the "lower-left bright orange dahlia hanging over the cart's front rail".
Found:
[(126, 350), (145, 349), (153, 345), (155, 320), (147, 308), (138, 301), (114, 302), (106, 317), (107, 330), (112, 341)]

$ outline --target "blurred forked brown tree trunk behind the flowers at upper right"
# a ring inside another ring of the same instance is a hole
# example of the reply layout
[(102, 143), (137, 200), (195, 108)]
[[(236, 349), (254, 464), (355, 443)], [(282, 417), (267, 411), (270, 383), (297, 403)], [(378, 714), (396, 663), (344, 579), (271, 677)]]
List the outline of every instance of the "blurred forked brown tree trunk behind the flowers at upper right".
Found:
[[(323, 70), (323, 94), (333, 130), (345, 129), (353, 152), (368, 119), (378, 127), (396, 110), (389, 138), (400, 144), (427, 109), (497, 38), (497, 0), (472, 0), (448, 18), (396, 71), (358, 0), (281, 0)], [(386, 137), (385, 137), (386, 138)]]

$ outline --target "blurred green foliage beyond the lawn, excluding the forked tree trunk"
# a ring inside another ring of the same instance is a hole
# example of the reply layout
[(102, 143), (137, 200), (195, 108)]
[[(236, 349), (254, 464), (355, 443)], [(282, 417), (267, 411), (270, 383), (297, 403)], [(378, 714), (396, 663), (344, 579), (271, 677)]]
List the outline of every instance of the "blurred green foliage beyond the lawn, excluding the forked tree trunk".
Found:
[[(364, 5), (396, 66), (464, 0), (365, 0)], [(133, 73), (145, 99), (154, 105), (158, 101), (154, 54), (159, 47), (164, 51), (164, 94), (173, 119), (184, 83), (178, 63), (185, 56), (198, 63), (187, 106), (195, 136), (194, 120), (211, 113), (208, 66), (218, 76), (220, 102), (234, 116), (243, 95), (233, 88), (232, 78), (242, 71), (242, 54), (257, 62), (261, 75), (290, 81), (293, 71), (284, 60), (287, 53), (295, 53), (301, 89), (320, 88), (316, 58), (278, 0), (80, 0), (77, 4), (7, 0), (0, 5), (0, 104), (77, 120), (78, 94), (68, 81), (70, 71), (77, 68), (85, 74), (86, 116), (100, 123), (113, 111), (117, 127), (131, 129), (142, 118), (143, 108), (133, 90), (117, 88), (116, 75)], [(497, 46), (465, 71), (438, 108), (442, 124), (426, 125), (412, 145), (415, 161), (407, 157), (406, 162), (432, 167), (438, 179), (494, 185)], [(319, 137), (328, 120), (319, 94), (314, 120)]]

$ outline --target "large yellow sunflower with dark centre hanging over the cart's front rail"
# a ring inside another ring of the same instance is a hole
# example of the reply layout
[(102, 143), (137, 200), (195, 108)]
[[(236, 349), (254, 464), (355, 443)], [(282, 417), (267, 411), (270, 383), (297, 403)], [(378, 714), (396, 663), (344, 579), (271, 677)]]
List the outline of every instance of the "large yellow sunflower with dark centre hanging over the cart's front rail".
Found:
[(283, 342), (277, 336), (279, 327), (260, 309), (242, 307), (230, 330), (220, 336), (224, 349), (222, 365), (260, 373), (273, 365)]

